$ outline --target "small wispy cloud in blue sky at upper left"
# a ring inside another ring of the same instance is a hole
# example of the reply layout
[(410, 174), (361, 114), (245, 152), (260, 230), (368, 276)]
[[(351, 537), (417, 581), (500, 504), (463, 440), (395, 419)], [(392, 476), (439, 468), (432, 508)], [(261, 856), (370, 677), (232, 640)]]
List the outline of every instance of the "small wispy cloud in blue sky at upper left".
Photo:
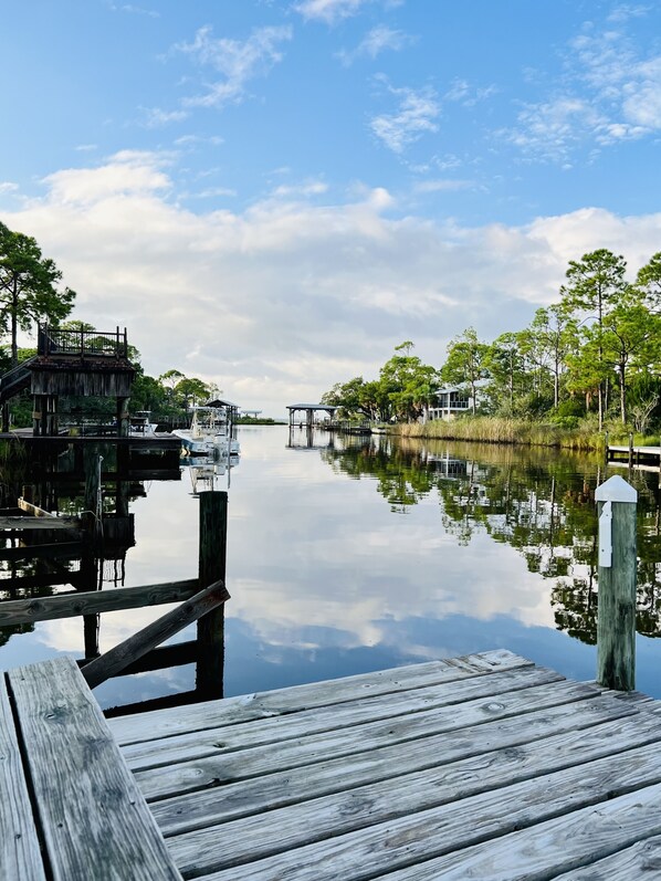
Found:
[(279, 46), (292, 39), (290, 27), (256, 28), (248, 40), (213, 38), (210, 25), (200, 28), (191, 43), (178, 43), (175, 52), (190, 55), (202, 66), (210, 66), (223, 78), (211, 83), (207, 91), (183, 101), (187, 107), (222, 107), (243, 101), (248, 83), (265, 76), (282, 61)]

